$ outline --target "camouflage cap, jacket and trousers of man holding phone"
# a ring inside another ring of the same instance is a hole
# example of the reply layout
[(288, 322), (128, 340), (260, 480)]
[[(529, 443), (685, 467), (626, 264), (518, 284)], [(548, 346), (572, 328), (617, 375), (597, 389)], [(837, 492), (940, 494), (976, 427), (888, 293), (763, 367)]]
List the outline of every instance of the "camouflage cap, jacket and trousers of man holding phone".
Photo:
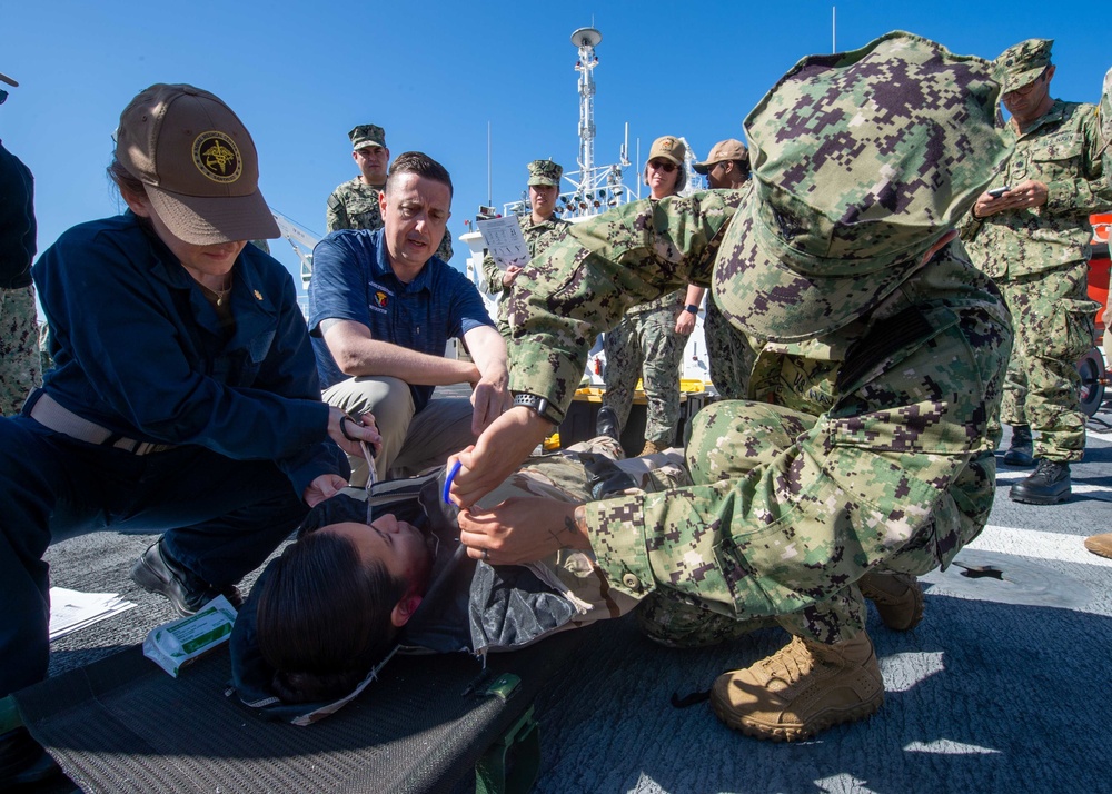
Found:
[[(996, 62), (1005, 71), (1015, 69), (1005, 66), (1010, 59), (1036, 63), (1037, 76), (1050, 64), (1050, 43), (1025, 41)], [(1001, 135), (1014, 152), (993, 186), (1034, 179), (1049, 190), (1041, 207), (983, 219), (969, 215), (962, 226), (970, 258), (1000, 286), (1015, 324), (1001, 418), (1039, 430), (1036, 458), (1081, 460), (1085, 416), (1076, 361), (1093, 346), (1093, 316), (1100, 308), (1088, 297), (1089, 216), (1112, 202), (1102, 181), (1096, 110), (1055, 100), (1024, 132), (1011, 120)]]

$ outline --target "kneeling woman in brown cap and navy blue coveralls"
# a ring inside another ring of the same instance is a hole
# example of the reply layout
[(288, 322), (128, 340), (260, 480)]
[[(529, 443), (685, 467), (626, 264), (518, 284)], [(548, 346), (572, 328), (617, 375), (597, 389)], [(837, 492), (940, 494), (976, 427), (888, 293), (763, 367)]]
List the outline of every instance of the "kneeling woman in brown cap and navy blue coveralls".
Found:
[[(140, 586), (181, 614), (238, 603), (236, 583), (347, 484), (340, 447), (379, 440), (320, 401), (292, 278), (247, 245), (278, 228), (227, 105), (151, 86), (108, 172), (129, 211), (73, 227), (33, 267), (56, 366), (0, 418), (0, 697), (47, 673), (54, 532), (165, 530), (131, 570)], [(28, 763), (0, 787), (43, 760), (26, 733), (0, 736), (0, 762), (9, 750)]]

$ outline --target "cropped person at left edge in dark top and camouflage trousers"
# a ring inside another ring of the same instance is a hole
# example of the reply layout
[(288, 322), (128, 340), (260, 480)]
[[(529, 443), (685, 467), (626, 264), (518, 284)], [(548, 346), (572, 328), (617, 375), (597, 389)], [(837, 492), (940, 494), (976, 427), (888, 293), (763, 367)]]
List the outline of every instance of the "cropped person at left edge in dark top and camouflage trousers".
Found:
[(14, 416), (42, 383), (31, 285), (34, 258), (31, 171), (0, 145), (0, 416)]

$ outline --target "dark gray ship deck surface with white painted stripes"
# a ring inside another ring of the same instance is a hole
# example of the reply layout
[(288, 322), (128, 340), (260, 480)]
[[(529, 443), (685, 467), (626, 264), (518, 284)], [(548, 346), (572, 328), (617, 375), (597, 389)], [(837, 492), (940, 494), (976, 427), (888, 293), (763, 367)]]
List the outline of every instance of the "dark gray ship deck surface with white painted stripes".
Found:
[[(764, 629), (718, 648), (671, 651), (623, 619), (598, 632), (600, 642), (538, 703), (536, 791), (1112, 791), (1112, 560), (1082, 546), (1112, 527), (1112, 433), (1092, 428), (1066, 504), (1010, 502), (1007, 487), (1026, 470), (1000, 467), (990, 526), (957, 559), (995, 565), (1002, 579), (971, 579), (956, 565), (932, 575), (926, 616), (912, 632), (887, 631), (870, 614), (886, 703), (868, 722), (785, 745), (731, 732), (706, 704), (676, 709), (674, 692), (706, 689), (786, 635)], [(139, 643), (175, 616), (127, 576), (153, 539), (102, 532), (51, 546), (54, 585), (139, 605), (54, 643), (51, 675)]]

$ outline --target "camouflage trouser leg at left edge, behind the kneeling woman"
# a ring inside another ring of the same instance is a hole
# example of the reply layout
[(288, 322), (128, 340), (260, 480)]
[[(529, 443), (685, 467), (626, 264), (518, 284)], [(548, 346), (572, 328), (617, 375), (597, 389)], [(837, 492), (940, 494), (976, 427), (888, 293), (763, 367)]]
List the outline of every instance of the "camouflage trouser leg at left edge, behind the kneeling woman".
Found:
[(14, 416), (42, 384), (34, 287), (0, 289), (0, 416)]

